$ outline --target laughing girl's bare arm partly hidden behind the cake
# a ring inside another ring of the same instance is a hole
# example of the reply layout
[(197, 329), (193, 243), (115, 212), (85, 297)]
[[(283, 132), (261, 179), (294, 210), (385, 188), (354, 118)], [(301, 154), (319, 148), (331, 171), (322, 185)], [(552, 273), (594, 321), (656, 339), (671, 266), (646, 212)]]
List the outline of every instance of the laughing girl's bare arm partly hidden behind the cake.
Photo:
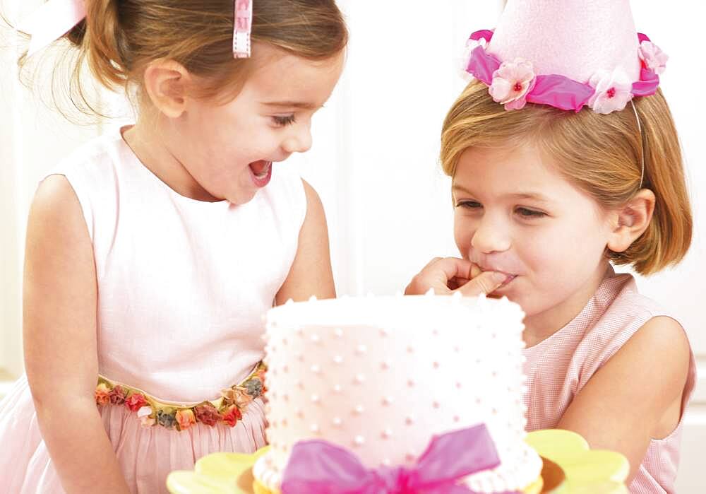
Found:
[(290, 298), (295, 301), (316, 298), (335, 298), (336, 289), (331, 271), (328, 247), (328, 227), (321, 199), (316, 191), (304, 182), (306, 192), (306, 218), (299, 232), (299, 247), (285, 283), (277, 292), (275, 303), (281, 305)]

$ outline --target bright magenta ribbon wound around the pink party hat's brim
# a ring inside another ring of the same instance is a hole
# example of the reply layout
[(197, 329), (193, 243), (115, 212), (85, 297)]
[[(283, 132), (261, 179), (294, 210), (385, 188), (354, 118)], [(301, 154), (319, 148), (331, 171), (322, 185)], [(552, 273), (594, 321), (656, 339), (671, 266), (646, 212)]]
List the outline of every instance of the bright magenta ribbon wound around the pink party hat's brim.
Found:
[[(479, 30), (470, 35), (469, 40), (486, 40), (490, 42), (493, 37), (491, 30)], [(650, 41), (650, 38), (642, 33), (638, 33), (638, 41)], [(473, 49), (466, 66), (466, 71), (479, 81), (491, 86), (493, 74), (500, 69), (501, 60), (493, 54), (486, 52), (482, 46)], [(630, 93), (635, 96), (650, 96), (657, 92), (659, 86), (659, 76), (647, 67), (642, 66), (640, 70), (640, 80), (633, 83)], [(595, 89), (588, 83), (580, 83), (558, 74), (537, 76), (534, 87), (527, 93), (527, 102), (539, 105), (550, 105), (561, 110), (573, 110), (579, 112), (582, 107), (588, 104)]]

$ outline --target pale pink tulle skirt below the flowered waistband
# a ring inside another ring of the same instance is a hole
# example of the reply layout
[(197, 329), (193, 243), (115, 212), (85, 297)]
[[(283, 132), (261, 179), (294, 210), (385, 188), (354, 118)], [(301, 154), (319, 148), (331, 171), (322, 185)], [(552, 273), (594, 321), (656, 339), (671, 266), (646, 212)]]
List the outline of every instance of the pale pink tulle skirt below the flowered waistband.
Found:
[[(144, 428), (125, 406), (102, 406), (105, 430), (133, 493), (167, 493), (174, 470), (191, 470), (213, 452), (255, 452), (265, 445), (265, 413), (260, 399), (231, 428), (196, 423), (184, 431)], [(37, 424), (30, 388), (20, 377), (0, 401), (0, 493), (64, 494)]]

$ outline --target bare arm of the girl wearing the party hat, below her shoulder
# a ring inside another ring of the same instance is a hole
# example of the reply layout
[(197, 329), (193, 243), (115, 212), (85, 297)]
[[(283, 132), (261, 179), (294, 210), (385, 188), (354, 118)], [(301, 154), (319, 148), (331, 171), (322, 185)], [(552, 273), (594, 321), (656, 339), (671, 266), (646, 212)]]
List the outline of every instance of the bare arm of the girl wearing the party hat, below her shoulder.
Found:
[(594, 449), (630, 461), (628, 485), (651, 438), (669, 435), (681, 416), (689, 343), (669, 317), (654, 317), (589, 380), (557, 428), (573, 430)]

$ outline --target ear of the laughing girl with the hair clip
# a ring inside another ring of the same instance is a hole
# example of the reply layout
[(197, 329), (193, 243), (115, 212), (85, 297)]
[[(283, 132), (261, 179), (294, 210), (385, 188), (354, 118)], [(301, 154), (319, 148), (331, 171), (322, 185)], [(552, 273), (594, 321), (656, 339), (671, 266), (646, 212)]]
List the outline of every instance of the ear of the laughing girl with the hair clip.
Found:
[(181, 117), (191, 74), (173, 60), (155, 60), (145, 69), (145, 90), (157, 110), (169, 118)]

